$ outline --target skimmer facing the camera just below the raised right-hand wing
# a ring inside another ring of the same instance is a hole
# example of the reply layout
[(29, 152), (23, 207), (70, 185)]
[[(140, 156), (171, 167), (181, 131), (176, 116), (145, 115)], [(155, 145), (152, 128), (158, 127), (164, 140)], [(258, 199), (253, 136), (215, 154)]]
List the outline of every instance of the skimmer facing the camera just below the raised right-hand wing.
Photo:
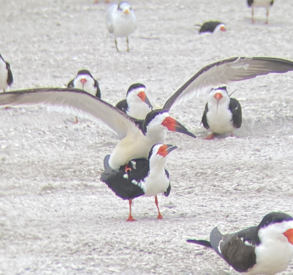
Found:
[(202, 115), (201, 123), (212, 131), (205, 139), (211, 140), (214, 134), (227, 134), (233, 136), (235, 128), (240, 128), (242, 122), (241, 106), (237, 99), (228, 95), (226, 87), (212, 89)]

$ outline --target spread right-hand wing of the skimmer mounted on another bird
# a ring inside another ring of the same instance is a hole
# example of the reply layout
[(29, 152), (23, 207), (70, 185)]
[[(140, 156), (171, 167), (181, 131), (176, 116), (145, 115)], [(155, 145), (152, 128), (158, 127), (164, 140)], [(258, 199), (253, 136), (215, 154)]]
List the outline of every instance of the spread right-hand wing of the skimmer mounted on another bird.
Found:
[(293, 71), (293, 62), (271, 57), (232, 57), (215, 62), (200, 69), (190, 80), (181, 86), (165, 103), (168, 111), (182, 101), (198, 97), (210, 88), (255, 78), (268, 73)]

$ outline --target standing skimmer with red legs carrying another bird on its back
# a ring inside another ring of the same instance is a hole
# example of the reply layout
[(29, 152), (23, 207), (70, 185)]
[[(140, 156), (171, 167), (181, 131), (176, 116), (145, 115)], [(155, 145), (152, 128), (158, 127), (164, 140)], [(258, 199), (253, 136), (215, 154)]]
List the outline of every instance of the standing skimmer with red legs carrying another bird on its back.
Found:
[[(143, 145), (142, 145), (143, 146)], [(133, 159), (127, 167), (122, 166), (119, 171), (101, 175), (101, 181), (123, 200), (129, 200), (129, 217), (127, 221), (135, 221), (131, 214), (132, 200), (139, 196), (155, 197), (158, 209), (157, 219), (163, 219), (160, 213), (157, 194), (168, 197), (171, 191), (169, 173), (165, 169), (166, 156), (176, 149), (170, 144), (155, 144), (147, 159)], [(105, 162), (107, 166), (107, 161)], [(107, 167), (105, 167), (105, 171)]]

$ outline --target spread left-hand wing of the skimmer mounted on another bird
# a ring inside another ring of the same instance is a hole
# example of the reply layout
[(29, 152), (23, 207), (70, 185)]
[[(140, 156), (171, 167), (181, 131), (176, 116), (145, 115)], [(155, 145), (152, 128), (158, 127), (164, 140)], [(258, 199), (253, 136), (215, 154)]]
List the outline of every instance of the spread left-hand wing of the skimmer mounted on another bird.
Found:
[(40, 88), (0, 94), (0, 106), (45, 105), (53, 110), (106, 124), (120, 139), (140, 131), (137, 120), (79, 89)]

